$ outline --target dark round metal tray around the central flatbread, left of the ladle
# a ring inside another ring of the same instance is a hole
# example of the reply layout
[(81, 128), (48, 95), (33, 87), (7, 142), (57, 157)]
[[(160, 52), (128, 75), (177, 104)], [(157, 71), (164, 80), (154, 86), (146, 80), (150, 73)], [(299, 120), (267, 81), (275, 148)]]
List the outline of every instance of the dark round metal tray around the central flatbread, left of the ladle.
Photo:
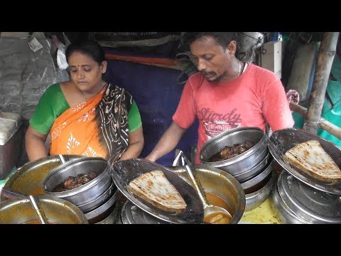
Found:
[[(168, 181), (175, 186), (180, 195), (183, 197), (185, 203), (187, 204), (187, 207), (183, 213), (166, 213), (165, 211), (160, 210), (151, 204), (141, 201), (139, 198), (135, 198), (129, 191), (126, 190), (126, 186), (134, 178), (154, 170), (163, 171), (163, 174), (165, 174)], [(154, 164), (151, 161), (146, 161), (143, 159), (118, 161), (112, 166), (112, 179), (119, 191), (121, 191), (121, 193), (123, 193), (124, 196), (131, 201), (131, 203), (134, 203), (134, 205), (141, 208), (141, 210), (146, 211), (156, 218), (165, 220), (169, 223), (178, 224), (201, 223), (202, 219), (204, 218), (204, 208), (194, 188), (178, 175), (173, 174), (172, 171), (169, 171), (161, 165)]]

